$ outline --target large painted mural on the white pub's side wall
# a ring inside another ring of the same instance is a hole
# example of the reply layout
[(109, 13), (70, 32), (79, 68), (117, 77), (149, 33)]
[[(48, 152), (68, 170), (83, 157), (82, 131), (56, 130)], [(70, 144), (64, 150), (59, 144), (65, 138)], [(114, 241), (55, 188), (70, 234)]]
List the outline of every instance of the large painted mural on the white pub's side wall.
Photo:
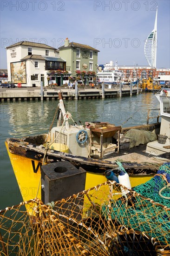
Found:
[(26, 61), (11, 63), (11, 82), (26, 83)]

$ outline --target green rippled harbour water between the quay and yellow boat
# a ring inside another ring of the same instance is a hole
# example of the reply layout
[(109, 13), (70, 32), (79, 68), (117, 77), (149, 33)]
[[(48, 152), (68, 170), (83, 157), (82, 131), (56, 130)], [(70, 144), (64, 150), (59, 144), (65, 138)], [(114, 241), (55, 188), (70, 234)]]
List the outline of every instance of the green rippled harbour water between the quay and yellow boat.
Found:
[[(0, 106), (0, 209), (22, 202), (5, 140), (47, 133), (58, 101), (3, 102)], [(65, 101), (65, 109), (74, 121), (107, 121), (129, 127), (146, 124), (149, 108), (159, 108), (152, 93), (132, 97)], [(131, 117), (131, 118), (130, 118)], [(128, 120), (129, 119), (129, 120)], [(126, 120), (128, 120), (126, 122)], [(156, 122), (156, 119), (151, 119)], [(23, 165), (24, 168), (24, 165)], [(26, 193), (26, 188), (25, 193)]]

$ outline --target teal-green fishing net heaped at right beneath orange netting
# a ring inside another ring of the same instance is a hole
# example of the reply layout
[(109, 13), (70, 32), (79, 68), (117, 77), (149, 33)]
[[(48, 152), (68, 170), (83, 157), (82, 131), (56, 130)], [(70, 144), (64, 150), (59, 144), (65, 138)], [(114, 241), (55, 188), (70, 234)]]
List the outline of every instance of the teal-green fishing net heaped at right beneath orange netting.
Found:
[[(102, 206), (102, 214), (106, 219), (110, 216), (112, 220), (128, 229), (146, 232), (160, 242), (170, 243), (170, 210), (167, 209), (170, 208), (170, 187), (166, 187), (168, 183), (170, 162), (164, 163), (150, 181), (133, 189), (147, 199), (128, 193), (127, 200), (123, 196), (118, 200), (113, 199), (111, 207), (108, 207), (106, 202)], [(161, 189), (163, 191), (159, 195)], [(150, 199), (153, 202), (150, 202)]]

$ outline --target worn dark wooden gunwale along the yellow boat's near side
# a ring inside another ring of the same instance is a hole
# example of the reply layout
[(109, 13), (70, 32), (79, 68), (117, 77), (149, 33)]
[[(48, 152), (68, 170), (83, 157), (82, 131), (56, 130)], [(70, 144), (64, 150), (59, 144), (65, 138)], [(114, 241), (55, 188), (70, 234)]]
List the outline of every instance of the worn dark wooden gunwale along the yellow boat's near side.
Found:
[[(43, 157), (46, 151), (46, 148), (42, 146), (39, 148), (36, 144), (26, 142), (27, 138), (36, 138), (37, 136), (43, 135), (33, 135), (33, 136), (26, 136), (22, 137), (21, 139), (18, 138), (8, 138), (6, 143), (8, 145), (8, 150), (10, 153), (15, 155), (20, 155), (22, 157), (27, 157), (33, 160), (37, 160), (39, 162), (43, 161)], [(58, 161), (69, 161), (77, 168), (80, 166), (82, 168), (88, 168), (88, 172), (93, 173), (104, 173), (105, 170), (111, 168), (117, 168), (118, 165), (116, 162), (111, 162), (104, 159), (93, 159), (87, 158), (83, 156), (75, 156), (70, 153), (60, 152), (57, 150), (49, 149), (46, 152), (47, 155), (47, 162), (58, 162)], [(129, 175), (153, 175), (157, 172), (156, 164), (151, 162), (126, 162), (121, 161), (126, 171), (128, 171)], [(160, 164), (161, 165), (161, 164)], [(92, 170), (91, 170), (92, 169)], [(115, 173), (118, 174), (118, 171), (115, 170)]]

